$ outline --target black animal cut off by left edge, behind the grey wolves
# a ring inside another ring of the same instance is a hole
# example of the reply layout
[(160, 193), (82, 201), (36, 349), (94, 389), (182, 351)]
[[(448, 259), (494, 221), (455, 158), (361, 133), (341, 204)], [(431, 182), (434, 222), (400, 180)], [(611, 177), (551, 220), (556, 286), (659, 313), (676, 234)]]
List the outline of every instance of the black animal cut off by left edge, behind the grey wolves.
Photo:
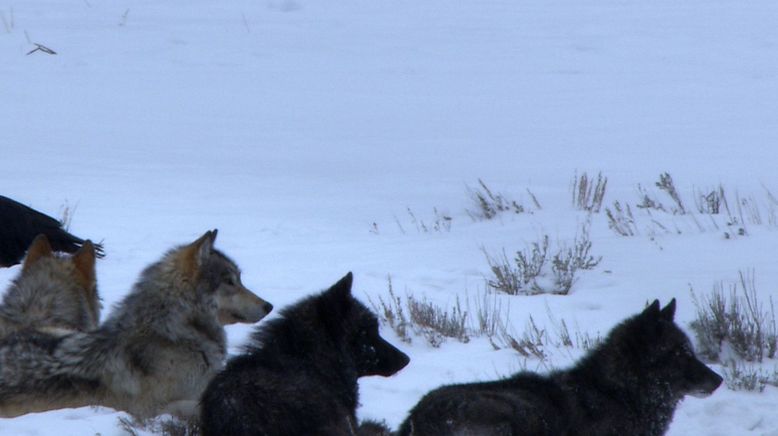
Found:
[[(54, 218), (0, 195), (0, 267), (19, 263), (39, 234), (46, 235), (55, 251), (74, 253), (84, 244)], [(94, 248), (103, 257), (102, 245), (94, 244)]]

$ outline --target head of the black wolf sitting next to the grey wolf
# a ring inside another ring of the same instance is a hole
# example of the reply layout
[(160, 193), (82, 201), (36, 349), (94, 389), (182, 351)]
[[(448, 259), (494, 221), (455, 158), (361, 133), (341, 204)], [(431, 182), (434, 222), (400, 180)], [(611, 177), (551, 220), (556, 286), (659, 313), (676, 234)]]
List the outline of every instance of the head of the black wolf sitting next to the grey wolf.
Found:
[(388, 377), (410, 359), (378, 334), (378, 319), (351, 295), (352, 282), (348, 273), (315, 300), (318, 318), (330, 338), (347, 349), (360, 377)]

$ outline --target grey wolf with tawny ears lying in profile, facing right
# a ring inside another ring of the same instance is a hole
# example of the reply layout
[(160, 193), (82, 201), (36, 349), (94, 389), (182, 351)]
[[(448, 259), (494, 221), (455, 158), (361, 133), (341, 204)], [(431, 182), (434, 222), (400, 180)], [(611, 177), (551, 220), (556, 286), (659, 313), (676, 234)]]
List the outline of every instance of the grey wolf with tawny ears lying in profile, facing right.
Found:
[(195, 415), (223, 366), (223, 324), (253, 323), (272, 305), (246, 289), (216, 231), (147, 267), (96, 330), (20, 332), (0, 341), (0, 416), (108, 406), (138, 419)]

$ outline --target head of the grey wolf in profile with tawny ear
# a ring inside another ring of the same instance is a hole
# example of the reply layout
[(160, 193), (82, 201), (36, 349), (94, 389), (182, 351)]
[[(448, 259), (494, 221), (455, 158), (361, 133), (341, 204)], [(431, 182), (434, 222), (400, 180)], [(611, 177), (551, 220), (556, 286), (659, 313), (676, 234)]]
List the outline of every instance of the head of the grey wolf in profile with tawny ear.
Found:
[(213, 292), (222, 325), (257, 322), (273, 310), (273, 305), (243, 286), (235, 262), (213, 248), (216, 234), (217, 230), (205, 232), (174, 252), (176, 267), (185, 280), (198, 283), (201, 291)]

